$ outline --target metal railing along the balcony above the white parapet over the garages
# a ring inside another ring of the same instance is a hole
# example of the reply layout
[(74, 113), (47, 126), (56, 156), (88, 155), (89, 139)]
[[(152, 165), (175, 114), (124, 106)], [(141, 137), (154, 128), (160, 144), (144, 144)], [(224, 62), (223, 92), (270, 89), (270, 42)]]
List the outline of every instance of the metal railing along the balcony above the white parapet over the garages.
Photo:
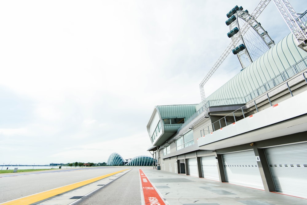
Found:
[[(234, 124), (235, 122), (238, 122), (239, 120), (242, 120), (244, 118), (250, 118), (252, 117), (253, 114), (259, 112), (258, 110), (258, 105), (265, 105), (265, 104), (270, 104), (270, 106), (274, 106), (272, 104), (272, 99), (274, 95), (279, 94), (280, 92), (287, 91), (287, 94), (290, 94), (293, 97), (293, 90), (291, 90), (291, 87), (293, 86), (294, 89), (297, 89), (296, 85), (304, 82), (304, 85), (307, 85), (307, 79), (306, 75), (307, 72), (302, 73), (301, 75), (298, 75), (297, 77), (291, 79), (290, 81), (286, 81), (285, 83), (281, 84), (278, 87), (275, 87), (275, 89), (271, 90), (270, 92), (266, 93), (266, 95), (263, 95), (262, 97), (254, 100), (254, 105), (253, 106), (243, 106), (239, 108), (238, 110), (233, 111), (232, 113), (226, 115), (225, 117), (217, 120), (216, 122), (213, 122), (211, 125), (208, 127), (204, 128), (203, 130), (200, 131), (200, 135), (204, 136), (206, 134), (212, 133), (216, 130), (220, 130), (223, 127), (227, 125)], [(289, 84), (291, 86), (289, 86)], [(271, 96), (271, 97), (270, 97)], [(251, 103), (250, 103), (251, 104)]]

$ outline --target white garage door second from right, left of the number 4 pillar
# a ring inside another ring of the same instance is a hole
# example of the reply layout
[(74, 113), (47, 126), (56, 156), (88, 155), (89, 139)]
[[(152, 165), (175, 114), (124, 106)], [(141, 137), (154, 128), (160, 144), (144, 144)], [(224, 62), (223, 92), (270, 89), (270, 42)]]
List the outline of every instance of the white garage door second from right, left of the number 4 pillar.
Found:
[(223, 154), (227, 182), (264, 190), (253, 150)]

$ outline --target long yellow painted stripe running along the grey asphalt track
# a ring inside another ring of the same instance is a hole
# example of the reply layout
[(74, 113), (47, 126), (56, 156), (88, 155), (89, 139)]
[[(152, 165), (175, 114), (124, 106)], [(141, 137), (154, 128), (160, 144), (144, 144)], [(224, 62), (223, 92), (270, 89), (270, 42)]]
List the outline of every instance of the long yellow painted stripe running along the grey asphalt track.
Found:
[(70, 191), (72, 189), (82, 187), (84, 185), (93, 183), (93, 182), (98, 181), (98, 180), (102, 180), (104, 178), (107, 178), (109, 176), (118, 174), (118, 173), (126, 171), (126, 170), (128, 170), (128, 169), (124, 169), (124, 170), (121, 170), (121, 171), (118, 171), (118, 172), (113, 172), (111, 174), (106, 174), (106, 175), (103, 175), (103, 176), (98, 176), (98, 177), (95, 177), (93, 179), (80, 181), (80, 182), (77, 182), (77, 183), (74, 183), (74, 184), (69, 184), (69, 185), (59, 187), (59, 188), (55, 188), (55, 189), (51, 189), (51, 190), (48, 190), (48, 191), (43, 191), (43, 192), (40, 192), (40, 193), (37, 193), (37, 194), (25, 196), (25, 197), (22, 197), (22, 198), (19, 198), (19, 199), (15, 199), (15, 200), (12, 200), (12, 201), (1, 203), (1, 205), (11, 205), (11, 204), (12, 205), (25, 205), (25, 204), (31, 204), (31, 203), (39, 202), (41, 200), (48, 199), (52, 196), (62, 194), (66, 191)]

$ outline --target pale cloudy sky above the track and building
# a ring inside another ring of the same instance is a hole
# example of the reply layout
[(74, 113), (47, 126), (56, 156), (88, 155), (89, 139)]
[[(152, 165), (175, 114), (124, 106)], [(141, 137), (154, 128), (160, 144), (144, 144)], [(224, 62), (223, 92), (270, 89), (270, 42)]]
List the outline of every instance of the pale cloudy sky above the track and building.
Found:
[[(200, 103), (231, 41), (226, 14), (259, 2), (1, 1), (0, 165), (150, 156), (154, 106)], [(290, 33), (273, 1), (257, 21), (275, 42)], [(206, 96), (240, 70), (229, 55)]]

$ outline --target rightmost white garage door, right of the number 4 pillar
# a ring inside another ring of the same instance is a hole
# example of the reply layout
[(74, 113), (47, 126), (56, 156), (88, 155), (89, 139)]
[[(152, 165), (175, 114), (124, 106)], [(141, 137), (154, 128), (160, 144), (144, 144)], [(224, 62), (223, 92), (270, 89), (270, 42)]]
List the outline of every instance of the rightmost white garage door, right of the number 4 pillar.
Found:
[(276, 191), (307, 198), (307, 143), (265, 149)]

